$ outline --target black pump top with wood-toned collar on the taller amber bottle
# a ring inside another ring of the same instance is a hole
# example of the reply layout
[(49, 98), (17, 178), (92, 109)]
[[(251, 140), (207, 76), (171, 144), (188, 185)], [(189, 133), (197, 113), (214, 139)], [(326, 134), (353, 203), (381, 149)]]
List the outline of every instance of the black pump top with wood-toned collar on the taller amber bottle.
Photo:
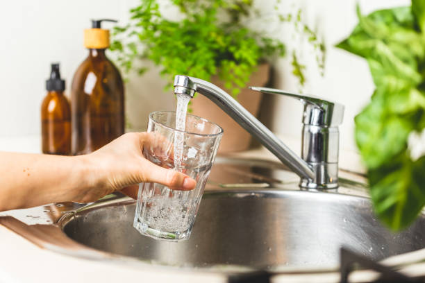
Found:
[(109, 47), (109, 30), (101, 28), (101, 22), (114, 22), (115, 19), (92, 19), (92, 28), (84, 30), (84, 46), (89, 49)]

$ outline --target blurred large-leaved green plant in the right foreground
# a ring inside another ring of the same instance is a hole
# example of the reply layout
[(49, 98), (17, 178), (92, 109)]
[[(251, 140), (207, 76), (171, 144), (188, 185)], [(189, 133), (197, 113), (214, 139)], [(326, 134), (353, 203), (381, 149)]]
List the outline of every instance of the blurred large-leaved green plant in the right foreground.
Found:
[(357, 115), (356, 143), (367, 166), (374, 210), (392, 230), (425, 205), (425, 156), (410, 135), (425, 128), (425, 1), (363, 16), (338, 47), (367, 60), (376, 89)]

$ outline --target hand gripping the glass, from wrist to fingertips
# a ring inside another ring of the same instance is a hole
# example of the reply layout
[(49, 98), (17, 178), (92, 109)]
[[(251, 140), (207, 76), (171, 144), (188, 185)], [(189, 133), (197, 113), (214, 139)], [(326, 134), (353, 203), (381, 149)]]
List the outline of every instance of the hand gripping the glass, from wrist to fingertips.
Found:
[[(136, 198), (140, 182), (157, 182), (170, 189), (194, 189), (196, 182), (188, 175), (165, 169), (144, 158), (143, 148), (151, 142), (151, 133), (129, 132), (94, 153), (81, 155), (88, 164), (90, 189), (76, 189), (73, 201), (88, 203), (117, 190)], [(166, 141), (159, 146), (165, 145)]]

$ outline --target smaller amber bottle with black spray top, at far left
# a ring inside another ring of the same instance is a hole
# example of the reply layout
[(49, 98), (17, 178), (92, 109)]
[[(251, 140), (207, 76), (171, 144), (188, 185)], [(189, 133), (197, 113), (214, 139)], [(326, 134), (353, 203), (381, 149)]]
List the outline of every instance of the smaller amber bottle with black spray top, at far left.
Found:
[(42, 152), (56, 155), (71, 154), (71, 109), (63, 94), (65, 80), (60, 78), (59, 64), (51, 65), (46, 81), (47, 96), (41, 107)]

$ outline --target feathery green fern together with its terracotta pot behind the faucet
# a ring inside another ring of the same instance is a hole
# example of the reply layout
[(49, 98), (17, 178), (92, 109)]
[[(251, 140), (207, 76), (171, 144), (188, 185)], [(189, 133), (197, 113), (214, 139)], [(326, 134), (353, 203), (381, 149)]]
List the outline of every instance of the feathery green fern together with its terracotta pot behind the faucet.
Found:
[[(162, 8), (174, 8), (173, 18), (167, 18)], [(267, 83), (268, 62), (285, 55), (285, 44), (270, 33), (249, 28), (247, 23), (263, 19), (251, 0), (170, 0), (166, 7), (160, 7), (156, 0), (141, 0), (130, 12), (131, 22), (115, 28), (111, 44), (118, 64), (126, 71), (137, 69), (143, 74), (146, 69), (136, 68), (135, 62), (148, 58), (161, 67), (169, 87), (176, 74), (209, 80), (235, 96), (252, 114), (258, 114), (261, 94), (251, 92), (247, 85)], [(274, 18), (294, 24), (323, 54), (324, 44), (302, 23), (301, 11), (295, 15), (275, 12)], [(323, 67), (324, 56), (318, 58)], [(295, 51), (292, 67), (302, 85), (305, 67)], [(194, 98), (190, 110), (224, 128), (220, 152), (248, 148), (250, 135), (206, 98)]]

